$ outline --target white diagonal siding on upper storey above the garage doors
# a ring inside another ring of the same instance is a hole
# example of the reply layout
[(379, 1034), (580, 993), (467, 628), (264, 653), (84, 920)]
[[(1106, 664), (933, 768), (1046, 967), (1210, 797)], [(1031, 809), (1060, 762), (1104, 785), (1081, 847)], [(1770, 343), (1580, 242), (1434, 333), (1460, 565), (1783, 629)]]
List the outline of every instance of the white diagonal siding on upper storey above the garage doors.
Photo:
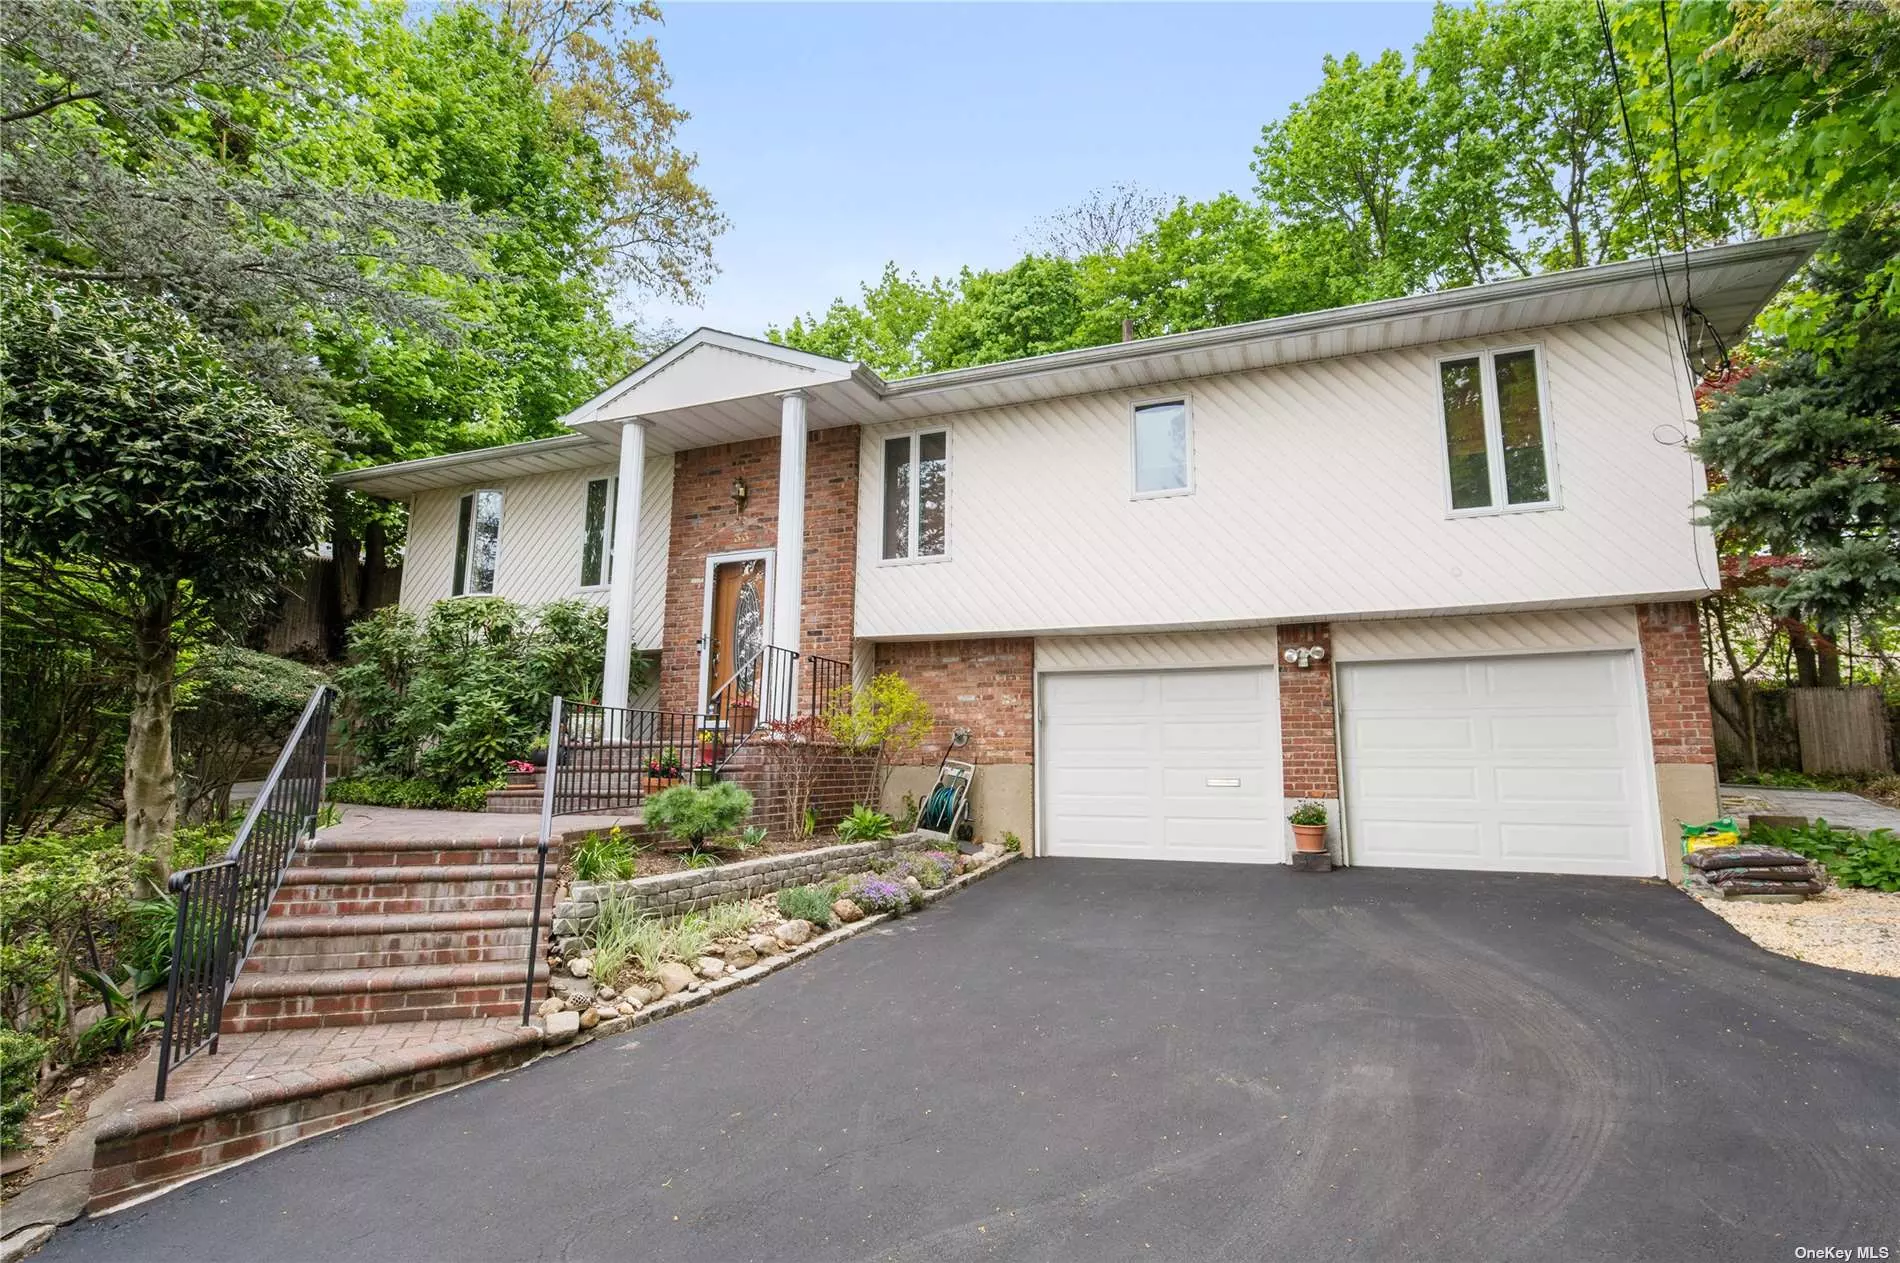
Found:
[[(1530, 338), (1528, 338), (1530, 340)], [(1562, 513), (1448, 513), (1436, 365), (1482, 342), (1193, 382), (1193, 494), (1129, 496), (1129, 408), (1155, 386), (958, 412), (954, 547), (882, 562), (866, 425), (855, 634), (1140, 632), (1685, 600), (1716, 579), (1680, 353), (1657, 317), (1535, 332)], [(1180, 397), (1184, 391), (1174, 391)]]

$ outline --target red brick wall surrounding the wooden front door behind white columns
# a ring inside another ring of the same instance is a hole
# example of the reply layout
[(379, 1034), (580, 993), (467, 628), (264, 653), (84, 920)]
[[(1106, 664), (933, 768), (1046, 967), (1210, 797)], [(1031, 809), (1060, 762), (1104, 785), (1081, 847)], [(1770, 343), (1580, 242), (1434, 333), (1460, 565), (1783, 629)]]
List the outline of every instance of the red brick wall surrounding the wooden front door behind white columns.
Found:
[[(732, 481), (745, 479), (745, 509)], [(667, 613), (659, 705), (699, 705), (707, 556), (770, 549), (779, 537), (779, 441), (752, 439), (673, 458)], [(806, 450), (806, 581), (798, 651), (851, 661), (857, 591), (857, 427), (813, 429)], [(806, 674), (800, 672), (800, 682)]]

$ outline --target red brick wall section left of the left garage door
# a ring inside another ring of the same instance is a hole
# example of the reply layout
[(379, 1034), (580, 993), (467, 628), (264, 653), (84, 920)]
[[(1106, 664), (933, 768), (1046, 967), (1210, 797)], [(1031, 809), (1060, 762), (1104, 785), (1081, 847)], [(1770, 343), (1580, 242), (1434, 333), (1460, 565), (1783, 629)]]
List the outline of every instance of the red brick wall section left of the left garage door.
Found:
[(904, 762), (937, 763), (950, 731), (969, 729), (960, 758), (973, 763), (1036, 760), (1036, 642), (904, 640), (878, 646), (878, 672), (895, 670), (931, 705), (937, 726)]

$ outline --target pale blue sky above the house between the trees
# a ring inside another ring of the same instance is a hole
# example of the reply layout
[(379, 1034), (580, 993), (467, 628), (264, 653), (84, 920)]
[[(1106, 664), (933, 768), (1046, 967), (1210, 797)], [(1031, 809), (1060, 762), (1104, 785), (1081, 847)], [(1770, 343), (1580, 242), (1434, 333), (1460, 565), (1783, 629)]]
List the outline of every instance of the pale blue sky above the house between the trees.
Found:
[(1132, 180), (1252, 188), (1262, 123), (1320, 57), (1410, 49), (1429, 4), (667, 4), (684, 146), (732, 220), (697, 308), (758, 334), (895, 258), (1005, 266), (1037, 217)]

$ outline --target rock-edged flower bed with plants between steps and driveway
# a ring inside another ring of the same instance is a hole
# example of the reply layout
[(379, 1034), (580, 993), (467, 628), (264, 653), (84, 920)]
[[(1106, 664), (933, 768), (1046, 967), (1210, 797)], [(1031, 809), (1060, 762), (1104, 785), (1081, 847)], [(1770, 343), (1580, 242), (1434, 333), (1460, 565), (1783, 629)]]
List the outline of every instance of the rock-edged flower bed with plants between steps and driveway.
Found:
[[(828, 877), (785, 883), (770, 898), (743, 893), (718, 898), (699, 895), (699, 887), (676, 887), (686, 891), (690, 900), (712, 898), (712, 902), (697, 906), (636, 902), (636, 895), (652, 895), (657, 883), (669, 879), (718, 881), (724, 874), (726, 885), (732, 887), (735, 877), (730, 870), (783, 860), (752, 860), (699, 874), (576, 887), (593, 896), (593, 912), (581, 923), (572, 898), (562, 904), (566, 915), (557, 910), (557, 933), (562, 925), (570, 933), (560, 934), (549, 952), (553, 980), (549, 997), (538, 1009), (540, 1022), (551, 1041), (564, 1041), (581, 1031), (625, 1029), (635, 1022), (760, 978), (885, 915), (922, 908), (1016, 858), (994, 843), (963, 857), (946, 851), (895, 849), (902, 841), (920, 839), (908, 836), (834, 847), (828, 853), (806, 853), (825, 860), (846, 858), (847, 864)], [(737, 881), (743, 883), (743, 877)], [(636, 887), (646, 889), (636, 891)], [(652, 912), (654, 906), (671, 906), (678, 912), (661, 915)]]

